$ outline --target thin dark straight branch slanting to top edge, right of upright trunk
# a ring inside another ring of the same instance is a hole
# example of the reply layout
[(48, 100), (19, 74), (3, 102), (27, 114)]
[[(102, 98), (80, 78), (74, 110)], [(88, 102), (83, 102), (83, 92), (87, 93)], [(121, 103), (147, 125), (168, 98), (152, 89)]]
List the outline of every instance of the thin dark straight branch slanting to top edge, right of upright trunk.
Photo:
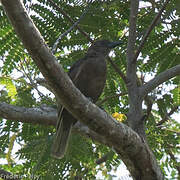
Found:
[(170, 0), (167, 0), (167, 1), (164, 3), (163, 7), (160, 9), (159, 13), (155, 16), (155, 18), (153, 19), (151, 25), (150, 25), (149, 28), (147, 29), (147, 31), (146, 31), (146, 33), (145, 33), (145, 35), (144, 35), (144, 37), (143, 37), (143, 39), (142, 39), (142, 41), (141, 41), (141, 43), (140, 43), (140, 45), (139, 45), (139, 48), (138, 48), (138, 50), (136, 51), (136, 54), (135, 54), (135, 56), (134, 56), (134, 59), (133, 59), (134, 62), (137, 60), (137, 58), (138, 58), (138, 56), (139, 56), (139, 54), (140, 54), (140, 52), (141, 52), (141, 50), (142, 50), (142, 48), (143, 48), (146, 40), (147, 40), (147, 38), (149, 37), (151, 31), (152, 31), (152, 30), (154, 29), (154, 27), (156, 26), (156, 23), (158, 22), (161, 14), (162, 14), (162, 12), (163, 12), (164, 9), (166, 8), (166, 6), (167, 6), (167, 4), (169, 3), (169, 1), (170, 1)]

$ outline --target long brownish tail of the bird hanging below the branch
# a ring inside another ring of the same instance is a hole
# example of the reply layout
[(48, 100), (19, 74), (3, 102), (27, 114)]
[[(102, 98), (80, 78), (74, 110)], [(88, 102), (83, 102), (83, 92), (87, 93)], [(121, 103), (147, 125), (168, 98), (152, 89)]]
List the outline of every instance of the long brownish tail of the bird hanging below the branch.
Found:
[(73, 124), (61, 119), (57, 124), (56, 134), (52, 145), (52, 156), (58, 159), (66, 153)]

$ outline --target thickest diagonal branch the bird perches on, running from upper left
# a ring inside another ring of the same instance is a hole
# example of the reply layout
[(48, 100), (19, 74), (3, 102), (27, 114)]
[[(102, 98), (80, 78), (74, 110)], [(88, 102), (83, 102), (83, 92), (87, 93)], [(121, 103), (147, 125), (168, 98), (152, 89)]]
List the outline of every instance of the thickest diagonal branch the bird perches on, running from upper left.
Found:
[(111, 142), (134, 179), (162, 180), (163, 175), (154, 156), (138, 134), (115, 121), (75, 88), (47, 48), (20, 0), (1, 1), (17, 35), (65, 108), (91, 130)]

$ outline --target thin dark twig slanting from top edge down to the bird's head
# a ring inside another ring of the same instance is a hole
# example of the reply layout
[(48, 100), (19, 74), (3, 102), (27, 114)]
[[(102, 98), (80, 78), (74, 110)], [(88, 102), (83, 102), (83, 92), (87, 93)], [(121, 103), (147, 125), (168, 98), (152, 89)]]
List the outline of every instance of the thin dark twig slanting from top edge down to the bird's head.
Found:
[[(71, 24), (75, 24), (75, 22), (72, 20), (72, 18), (71, 18), (63, 9), (61, 9), (53, 0), (49, 0), (49, 2), (50, 2), (64, 17), (66, 17), (66, 18), (71, 22)], [(93, 40), (90, 38), (90, 36), (89, 36), (86, 32), (84, 32), (78, 25), (75, 26), (75, 28), (78, 29), (79, 32), (80, 32), (81, 34), (83, 34), (83, 35), (87, 38), (88, 41), (93, 42)]]

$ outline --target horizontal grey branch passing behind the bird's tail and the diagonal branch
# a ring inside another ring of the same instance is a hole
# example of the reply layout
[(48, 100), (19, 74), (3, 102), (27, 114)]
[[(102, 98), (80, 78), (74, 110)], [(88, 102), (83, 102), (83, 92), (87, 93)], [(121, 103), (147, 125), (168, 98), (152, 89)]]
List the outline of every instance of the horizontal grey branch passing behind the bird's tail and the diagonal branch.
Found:
[[(37, 124), (43, 126), (56, 126), (57, 110), (49, 106), (41, 106), (37, 108), (24, 108), (10, 105), (7, 103), (0, 103), (0, 117), (16, 122)], [(73, 128), (74, 132), (78, 132), (83, 136), (91, 138), (102, 144), (110, 146), (107, 140), (90, 130), (87, 126), (78, 122)]]

